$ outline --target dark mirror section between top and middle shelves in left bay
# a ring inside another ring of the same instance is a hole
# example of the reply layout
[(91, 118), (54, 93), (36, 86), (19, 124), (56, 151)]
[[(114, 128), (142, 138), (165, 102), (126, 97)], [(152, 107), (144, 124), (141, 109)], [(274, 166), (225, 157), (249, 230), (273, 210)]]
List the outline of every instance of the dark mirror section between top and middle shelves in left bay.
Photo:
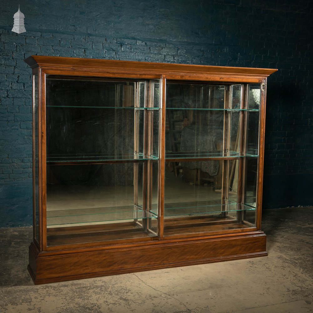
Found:
[(142, 158), (143, 120), (143, 111), (47, 107), (48, 161)]

